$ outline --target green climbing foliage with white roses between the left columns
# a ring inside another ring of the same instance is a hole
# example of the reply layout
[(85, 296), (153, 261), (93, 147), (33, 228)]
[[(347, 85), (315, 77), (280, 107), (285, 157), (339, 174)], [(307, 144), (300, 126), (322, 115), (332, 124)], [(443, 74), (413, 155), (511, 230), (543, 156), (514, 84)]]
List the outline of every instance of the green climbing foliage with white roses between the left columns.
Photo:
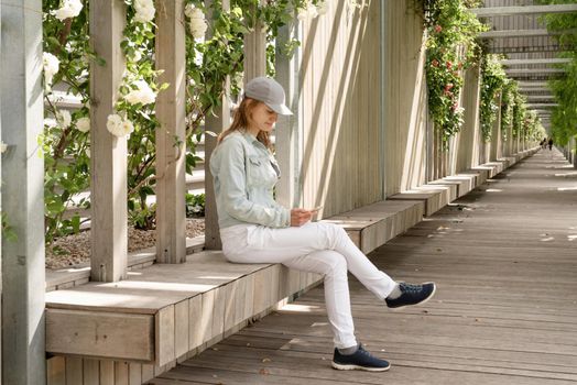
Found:
[[(81, 0), (84, 8), (77, 16), (61, 21), (54, 11), (62, 7), (61, 0), (43, 0), (44, 52), (52, 53), (59, 61), (59, 70), (52, 84), (64, 85), (65, 91), (75, 95), (81, 108), (72, 111), (70, 124), (56, 120), (59, 111), (54, 103), (54, 94), (47, 87), (45, 100), (46, 120), (43, 135), (39, 139), (45, 157), (45, 223), (46, 240), (79, 231), (80, 218), (65, 219), (66, 207), (89, 208), (89, 201), (77, 196), (89, 188), (90, 143), (89, 133), (77, 130), (81, 118), (89, 117), (89, 62), (105, 65), (89, 47), (88, 0)], [(210, 15), (206, 38), (190, 35), (188, 20), (186, 38), (186, 136), (184, 142), (173, 138), (175, 152), (185, 156), (186, 172), (192, 173), (199, 157), (196, 144), (202, 139), (205, 118), (220, 106), (225, 84), (230, 79), (232, 95), (238, 95), (243, 73), (243, 38), (257, 21), (266, 29), (269, 43), (268, 73), (273, 74), (276, 52), (291, 53), (298, 42), (287, 42), (285, 47), (275, 50), (279, 30), (295, 19), (300, 9), (317, 4), (319, 0), (280, 0), (261, 4), (258, 0), (232, 0), (230, 11), (221, 10), (221, 1), (213, 1), (210, 8), (204, 1), (187, 0)], [(127, 4), (127, 26), (120, 47), (126, 56), (126, 72), (119, 89), (115, 113), (133, 124), (134, 131), (128, 138), (128, 209), (129, 219), (138, 228), (154, 227), (155, 207), (146, 204), (154, 194), (157, 174), (155, 169), (155, 139), (159, 122), (155, 103), (130, 103), (124, 98), (137, 89), (135, 82), (143, 80), (154, 94), (170, 87), (157, 84), (160, 73), (155, 70), (155, 24), (137, 21), (132, 0)], [(46, 86), (48, 81), (46, 79)], [(58, 86), (58, 87), (59, 87)], [(185, 150), (186, 148), (186, 150)], [(76, 202), (74, 201), (76, 200)]]

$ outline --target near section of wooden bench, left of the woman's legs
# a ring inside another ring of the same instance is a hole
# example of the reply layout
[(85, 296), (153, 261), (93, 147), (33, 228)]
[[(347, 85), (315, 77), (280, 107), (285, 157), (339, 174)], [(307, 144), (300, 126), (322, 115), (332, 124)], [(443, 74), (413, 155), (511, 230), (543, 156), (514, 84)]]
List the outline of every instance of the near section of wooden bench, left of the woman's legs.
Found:
[(184, 264), (130, 272), (126, 280), (50, 292), (46, 351), (165, 365), (319, 278), (205, 251)]

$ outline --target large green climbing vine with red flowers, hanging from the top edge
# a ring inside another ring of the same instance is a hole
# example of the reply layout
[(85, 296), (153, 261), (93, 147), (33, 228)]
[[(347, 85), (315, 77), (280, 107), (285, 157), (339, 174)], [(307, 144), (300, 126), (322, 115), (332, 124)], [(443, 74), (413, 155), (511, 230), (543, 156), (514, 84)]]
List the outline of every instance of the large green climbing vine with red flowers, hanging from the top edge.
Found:
[(423, 0), (427, 30), (426, 78), (429, 113), (440, 131), (444, 147), (459, 132), (464, 110), (459, 95), (464, 70), (476, 63), (479, 46), (475, 38), (486, 28), (467, 7), (478, 1)]

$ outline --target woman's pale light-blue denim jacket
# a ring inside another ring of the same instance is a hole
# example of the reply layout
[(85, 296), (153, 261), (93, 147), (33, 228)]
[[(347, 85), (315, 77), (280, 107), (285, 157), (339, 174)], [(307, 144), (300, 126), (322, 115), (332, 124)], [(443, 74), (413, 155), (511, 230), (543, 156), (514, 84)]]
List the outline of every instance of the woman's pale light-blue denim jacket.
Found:
[(220, 229), (246, 223), (291, 226), (291, 211), (273, 199), (279, 165), (255, 136), (248, 132), (226, 136), (210, 157), (210, 173)]

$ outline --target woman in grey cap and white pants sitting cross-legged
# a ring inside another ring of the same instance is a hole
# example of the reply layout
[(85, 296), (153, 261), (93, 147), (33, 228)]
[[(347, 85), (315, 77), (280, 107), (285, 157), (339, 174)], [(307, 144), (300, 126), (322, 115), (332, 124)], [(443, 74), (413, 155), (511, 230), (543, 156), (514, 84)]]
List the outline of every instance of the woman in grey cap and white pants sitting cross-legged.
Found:
[(230, 262), (282, 263), (325, 275), (325, 301), (334, 332), (333, 367), (387, 371), (390, 364), (355, 338), (347, 271), (390, 308), (423, 304), (435, 284), (396, 283), (380, 272), (352, 243), (342, 228), (311, 222), (315, 210), (284, 208), (273, 199), (280, 170), (269, 135), (279, 114), (292, 114), (275, 80), (258, 77), (210, 158), (215, 180), (222, 251)]

